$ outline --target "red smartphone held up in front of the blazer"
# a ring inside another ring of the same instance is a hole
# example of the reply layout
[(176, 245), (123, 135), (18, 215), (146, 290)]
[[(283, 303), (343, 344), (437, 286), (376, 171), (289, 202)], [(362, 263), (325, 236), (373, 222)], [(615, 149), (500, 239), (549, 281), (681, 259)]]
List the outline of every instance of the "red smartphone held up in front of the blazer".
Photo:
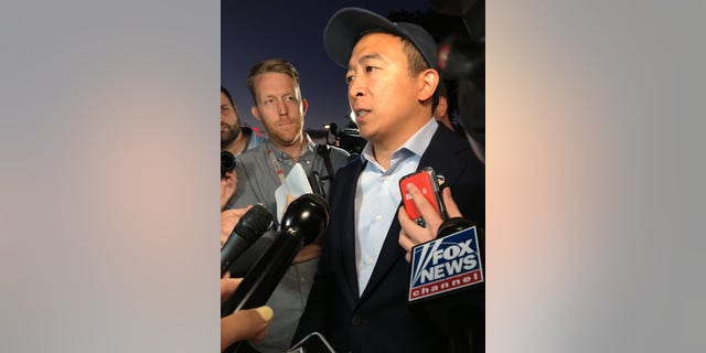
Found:
[(443, 201), (441, 200), (441, 189), (437, 179), (437, 173), (434, 168), (425, 167), (419, 171), (411, 174), (407, 174), (399, 180), (399, 192), (402, 193), (405, 211), (409, 218), (414, 220), (420, 226), (426, 226), (421, 213), (417, 210), (415, 201), (411, 200), (411, 194), (407, 192), (407, 184), (413, 183), (417, 189), (421, 191), (425, 197), (431, 203), (442, 220), (448, 217)]

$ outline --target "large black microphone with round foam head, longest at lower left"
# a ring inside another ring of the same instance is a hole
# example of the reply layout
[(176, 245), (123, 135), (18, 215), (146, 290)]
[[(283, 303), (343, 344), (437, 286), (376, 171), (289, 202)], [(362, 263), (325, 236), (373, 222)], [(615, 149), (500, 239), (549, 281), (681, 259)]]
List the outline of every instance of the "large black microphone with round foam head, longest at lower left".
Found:
[(245, 275), (233, 296), (221, 304), (221, 318), (267, 303), (297, 253), (329, 226), (329, 204), (317, 194), (303, 194), (285, 211), (279, 235)]

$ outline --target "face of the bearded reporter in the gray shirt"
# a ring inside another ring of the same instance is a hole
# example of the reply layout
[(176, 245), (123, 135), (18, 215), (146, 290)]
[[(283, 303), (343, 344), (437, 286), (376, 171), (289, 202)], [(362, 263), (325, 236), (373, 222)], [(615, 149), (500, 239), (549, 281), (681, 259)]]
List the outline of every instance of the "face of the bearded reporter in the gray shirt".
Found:
[(269, 140), (278, 147), (301, 141), (307, 113), (307, 99), (286, 74), (265, 73), (255, 78), (257, 104), (253, 115), (259, 120)]

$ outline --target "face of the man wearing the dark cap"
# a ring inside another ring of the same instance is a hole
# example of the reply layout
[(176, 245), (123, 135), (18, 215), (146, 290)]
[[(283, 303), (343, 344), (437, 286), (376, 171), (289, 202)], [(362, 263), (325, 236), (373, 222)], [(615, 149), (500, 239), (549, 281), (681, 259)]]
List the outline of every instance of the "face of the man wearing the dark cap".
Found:
[(372, 143), (404, 143), (418, 79), (409, 76), (400, 39), (384, 33), (362, 38), (353, 47), (346, 81), (361, 136)]

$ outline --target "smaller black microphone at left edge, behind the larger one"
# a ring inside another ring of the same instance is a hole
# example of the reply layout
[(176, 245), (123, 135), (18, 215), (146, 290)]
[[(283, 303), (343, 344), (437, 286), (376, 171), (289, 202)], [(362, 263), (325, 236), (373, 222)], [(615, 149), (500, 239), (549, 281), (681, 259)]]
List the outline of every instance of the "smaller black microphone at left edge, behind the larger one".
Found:
[(233, 233), (221, 248), (221, 276), (233, 260), (240, 256), (263, 233), (272, 225), (272, 214), (261, 204), (254, 204), (233, 228)]

